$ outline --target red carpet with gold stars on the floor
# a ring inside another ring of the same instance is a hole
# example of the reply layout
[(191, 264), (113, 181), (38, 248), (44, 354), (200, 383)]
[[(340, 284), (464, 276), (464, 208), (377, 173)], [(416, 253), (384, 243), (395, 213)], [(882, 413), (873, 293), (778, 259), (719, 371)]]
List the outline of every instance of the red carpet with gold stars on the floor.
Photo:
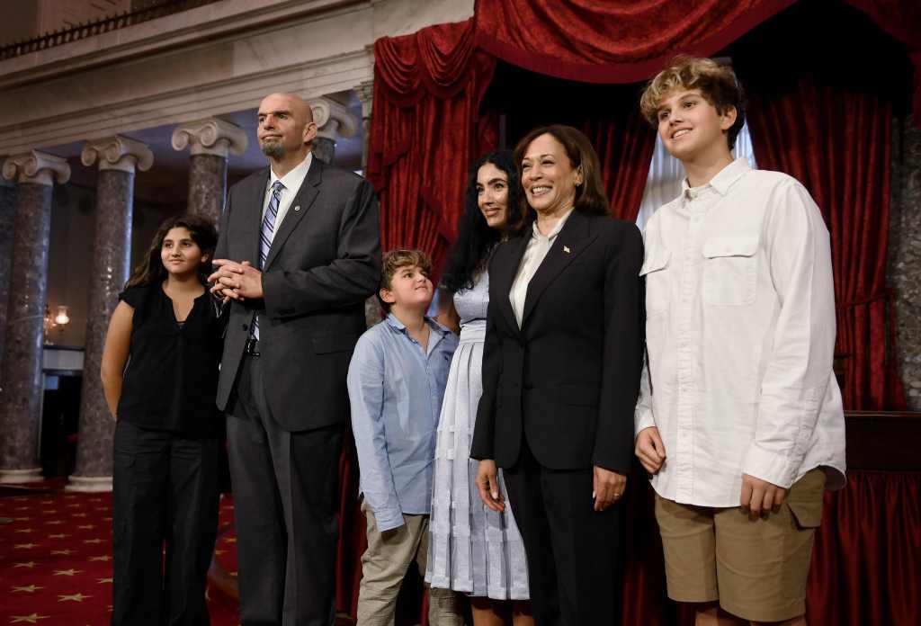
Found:
[[(111, 614), (111, 494), (0, 493), (0, 625), (105, 626)], [(233, 504), (221, 502), (221, 527)], [(236, 574), (232, 530), (218, 561)], [(236, 626), (237, 601), (208, 589), (213, 626)]]

